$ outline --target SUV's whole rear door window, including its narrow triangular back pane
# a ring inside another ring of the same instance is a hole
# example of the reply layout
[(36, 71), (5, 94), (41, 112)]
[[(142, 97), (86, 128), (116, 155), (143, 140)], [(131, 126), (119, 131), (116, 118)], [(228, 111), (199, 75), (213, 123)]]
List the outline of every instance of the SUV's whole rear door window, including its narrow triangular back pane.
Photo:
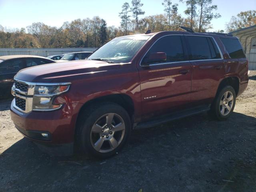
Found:
[(186, 36), (189, 60), (220, 59), (220, 52), (211, 37)]

